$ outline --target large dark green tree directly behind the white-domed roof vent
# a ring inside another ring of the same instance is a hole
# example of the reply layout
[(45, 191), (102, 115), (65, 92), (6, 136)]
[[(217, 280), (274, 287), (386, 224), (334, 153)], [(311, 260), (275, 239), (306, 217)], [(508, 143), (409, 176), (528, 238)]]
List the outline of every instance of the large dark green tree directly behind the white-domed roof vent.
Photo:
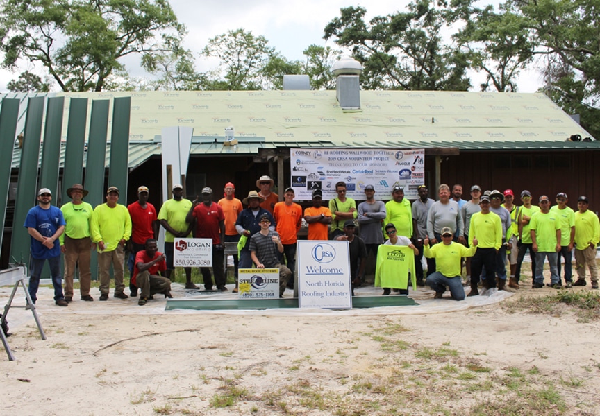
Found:
[(436, 8), (433, 0), (416, 0), (408, 12), (374, 17), (368, 24), (366, 12), (342, 8), (324, 30), (325, 39), (351, 48), (363, 64), (364, 88), (468, 89), (464, 56), (443, 43), (442, 28), (453, 18), (445, 3)]

